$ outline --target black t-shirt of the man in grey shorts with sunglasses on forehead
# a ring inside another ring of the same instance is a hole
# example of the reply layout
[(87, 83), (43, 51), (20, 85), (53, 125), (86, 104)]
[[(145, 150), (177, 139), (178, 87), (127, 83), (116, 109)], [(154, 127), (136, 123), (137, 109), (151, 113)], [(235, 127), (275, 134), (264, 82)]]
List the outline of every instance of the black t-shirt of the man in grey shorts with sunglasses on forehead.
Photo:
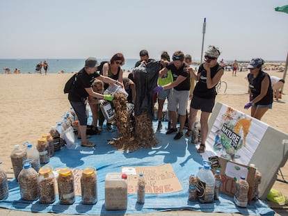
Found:
[(166, 68), (171, 70), (173, 75), (173, 81), (177, 79), (178, 76), (184, 76), (186, 77), (182, 83), (179, 83), (177, 86), (174, 87), (177, 91), (186, 91), (190, 90), (190, 72), (186, 71), (184, 68), (187, 67), (187, 65), (184, 63), (181, 67), (178, 69), (175, 67), (173, 62), (169, 63)]

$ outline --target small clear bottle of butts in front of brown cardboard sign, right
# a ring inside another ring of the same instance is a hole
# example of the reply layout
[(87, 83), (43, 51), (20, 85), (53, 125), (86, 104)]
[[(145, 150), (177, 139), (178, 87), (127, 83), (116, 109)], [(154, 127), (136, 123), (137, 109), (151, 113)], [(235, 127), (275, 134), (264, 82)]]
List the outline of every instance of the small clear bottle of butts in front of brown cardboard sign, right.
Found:
[(234, 203), (241, 207), (246, 208), (248, 203), (249, 185), (245, 180), (245, 176), (241, 176), (236, 182), (236, 192), (234, 194)]

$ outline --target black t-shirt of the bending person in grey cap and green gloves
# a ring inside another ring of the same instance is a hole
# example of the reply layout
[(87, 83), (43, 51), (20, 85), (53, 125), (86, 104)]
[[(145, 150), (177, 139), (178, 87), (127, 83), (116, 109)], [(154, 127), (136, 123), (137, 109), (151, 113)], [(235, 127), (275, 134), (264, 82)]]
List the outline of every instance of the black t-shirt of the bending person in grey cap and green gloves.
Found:
[(68, 94), (68, 99), (74, 102), (85, 101), (88, 97), (88, 92), (85, 88), (90, 88), (94, 79), (100, 76), (97, 72), (94, 74), (87, 74), (85, 69), (81, 69), (77, 74), (77, 80), (72, 85), (72, 90)]

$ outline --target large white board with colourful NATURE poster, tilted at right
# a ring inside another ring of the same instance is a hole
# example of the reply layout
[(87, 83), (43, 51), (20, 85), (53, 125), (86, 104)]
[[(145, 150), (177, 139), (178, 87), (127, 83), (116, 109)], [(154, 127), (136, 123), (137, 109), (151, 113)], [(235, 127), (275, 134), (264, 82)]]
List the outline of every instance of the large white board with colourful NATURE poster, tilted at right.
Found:
[(216, 103), (209, 119), (203, 160), (221, 156), (243, 165), (255, 164), (262, 173), (260, 197), (266, 198), (277, 172), (288, 158), (288, 134), (238, 110)]

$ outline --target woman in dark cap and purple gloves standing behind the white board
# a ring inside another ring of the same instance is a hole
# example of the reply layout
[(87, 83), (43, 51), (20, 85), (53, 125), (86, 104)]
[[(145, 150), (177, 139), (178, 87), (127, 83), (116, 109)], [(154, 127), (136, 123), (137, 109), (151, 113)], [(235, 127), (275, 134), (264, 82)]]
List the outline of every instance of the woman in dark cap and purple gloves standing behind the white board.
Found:
[(244, 106), (244, 109), (251, 107), (251, 117), (261, 120), (267, 110), (272, 108), (273, 89), (269, 74), (262, 71), (264, 60), (262, 58), (253, 58), (248, 69), (249, 93), (250, 100)]

